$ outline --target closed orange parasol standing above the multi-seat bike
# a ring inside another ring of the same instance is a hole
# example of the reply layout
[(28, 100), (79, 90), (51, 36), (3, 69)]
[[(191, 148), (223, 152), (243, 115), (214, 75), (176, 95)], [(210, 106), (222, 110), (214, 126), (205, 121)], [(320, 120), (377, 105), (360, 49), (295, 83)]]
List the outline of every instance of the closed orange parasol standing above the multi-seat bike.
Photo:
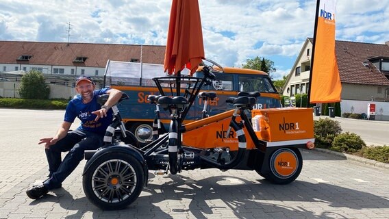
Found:
[(203, 31), (199, 2), (197, 0), (173, 0), (168, 27), (164, 71), (179, 73), (185, 67), (190, 75), (204, 58)]

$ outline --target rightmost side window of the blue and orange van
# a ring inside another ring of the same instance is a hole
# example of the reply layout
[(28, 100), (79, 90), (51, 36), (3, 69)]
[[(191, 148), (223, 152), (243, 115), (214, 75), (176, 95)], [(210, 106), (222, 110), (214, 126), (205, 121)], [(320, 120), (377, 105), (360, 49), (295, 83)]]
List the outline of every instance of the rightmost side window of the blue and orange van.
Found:
[(253, 75), (239, 75), (239, 91), (263, 93), (276, 92), (268, 77), (258, 77)]

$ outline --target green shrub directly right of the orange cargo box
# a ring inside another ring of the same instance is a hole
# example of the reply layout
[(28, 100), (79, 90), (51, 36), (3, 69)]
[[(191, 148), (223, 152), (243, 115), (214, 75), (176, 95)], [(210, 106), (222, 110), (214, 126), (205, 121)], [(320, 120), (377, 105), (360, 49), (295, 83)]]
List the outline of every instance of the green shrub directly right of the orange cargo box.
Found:
[(319, 147), (331, 147), (334, 138), (341, 132), (340, 123), (336, 120), (329, 118), (314, 120), (314, 136)]

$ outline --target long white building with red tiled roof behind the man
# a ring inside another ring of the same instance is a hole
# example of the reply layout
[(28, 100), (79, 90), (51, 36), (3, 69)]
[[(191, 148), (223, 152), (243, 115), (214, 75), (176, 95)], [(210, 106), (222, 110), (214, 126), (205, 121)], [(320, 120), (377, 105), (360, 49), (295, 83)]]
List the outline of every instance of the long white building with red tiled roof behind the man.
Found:
[[(65, 89), (58, 86), (73, 87), (79, 75), (91, 76), (101, 87), (108, 60), (163, 64), (165, 48), (134, 44), (0, 41), (0, 96), (18, 97), (14, 88), (17, 89), (18, 81), (29, 70), (40, 71), (51, 86), (56, 85), (52, 92)], [(50, 97), (60, 97), (62, 92)], [(71, 94), (64, 94), (64, 97)]]

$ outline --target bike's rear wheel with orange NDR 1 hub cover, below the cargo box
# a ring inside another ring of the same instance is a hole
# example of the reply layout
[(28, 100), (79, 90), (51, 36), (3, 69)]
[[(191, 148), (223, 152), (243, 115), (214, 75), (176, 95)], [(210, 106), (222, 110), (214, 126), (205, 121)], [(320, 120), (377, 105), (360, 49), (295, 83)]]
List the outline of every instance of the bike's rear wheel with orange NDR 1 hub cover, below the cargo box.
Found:
[(269, 157), (270, 171), (258, 174), (275, 184), (288, 184), (299, 177), (303, 168), (303, 157), (297, 148), (282, 148), (274, 151)]

